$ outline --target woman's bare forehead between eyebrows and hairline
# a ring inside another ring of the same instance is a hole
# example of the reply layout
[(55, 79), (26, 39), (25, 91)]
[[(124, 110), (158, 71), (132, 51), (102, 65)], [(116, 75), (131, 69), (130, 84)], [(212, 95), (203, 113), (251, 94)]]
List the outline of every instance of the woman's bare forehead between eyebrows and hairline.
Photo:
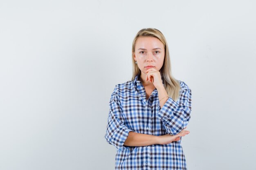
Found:
[(155, 37), (139, 37), (135, 44), (135, 50), (139, 48), (144, 49), (154, 49), (154, 48), (164, 48), (164, 44)]

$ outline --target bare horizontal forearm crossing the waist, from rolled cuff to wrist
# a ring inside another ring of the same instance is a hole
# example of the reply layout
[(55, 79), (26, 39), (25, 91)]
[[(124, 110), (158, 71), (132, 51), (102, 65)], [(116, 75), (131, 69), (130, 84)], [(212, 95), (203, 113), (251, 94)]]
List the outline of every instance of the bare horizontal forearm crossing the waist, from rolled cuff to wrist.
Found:
[(126, 146), (148, 146), (157, 144), (157, 136), (155, 135), (148, 135), (143, 133), (137, 132), (129, 132), (129, 135), (124, 142)]

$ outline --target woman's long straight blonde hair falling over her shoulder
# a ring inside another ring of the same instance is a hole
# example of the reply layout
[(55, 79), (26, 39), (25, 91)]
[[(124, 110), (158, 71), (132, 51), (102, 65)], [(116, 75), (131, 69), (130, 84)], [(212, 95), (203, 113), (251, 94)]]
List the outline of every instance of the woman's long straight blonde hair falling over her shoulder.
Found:
[(177, 102), (178, 97), (180, 96), (180, 82), (178, 82), (171, 74), (171, 60), (169, 55), (169, 49), (164, 38), (164, 35), (158, 30), (153, 28), (141, 29), (135, 36), (132, 42), (132, 80), (135, 79), (136, 75), (140, 75), (141, 71), (137, 64), (135, 64), (134, 55), (135, 55), (135, 44), (139, 37), (141, 36), (150, 36), (155, 37), (164, 44), (165, 55), (164, 63), (162, 68), (159, 70), (162, 79), (164, 81), (164, 88), (169, 97)]

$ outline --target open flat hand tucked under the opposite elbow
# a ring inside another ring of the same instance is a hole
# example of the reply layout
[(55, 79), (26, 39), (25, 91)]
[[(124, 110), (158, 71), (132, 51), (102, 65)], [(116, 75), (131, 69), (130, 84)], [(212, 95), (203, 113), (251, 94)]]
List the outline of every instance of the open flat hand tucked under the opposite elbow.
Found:
[[(186, 128), (184, 128), (184, 129), (186, 129)], [(179, 141), (180, 137), (189, 134), (189, 130), (184, 130), (184, 129), (177, 135), (166, 134), (166, 135), (162, 135), (162, 136), (157, 136), (157, 138), (158, 138), (157, 144), (166, 145), (166, 144), (170, 144), (173, 141)]]

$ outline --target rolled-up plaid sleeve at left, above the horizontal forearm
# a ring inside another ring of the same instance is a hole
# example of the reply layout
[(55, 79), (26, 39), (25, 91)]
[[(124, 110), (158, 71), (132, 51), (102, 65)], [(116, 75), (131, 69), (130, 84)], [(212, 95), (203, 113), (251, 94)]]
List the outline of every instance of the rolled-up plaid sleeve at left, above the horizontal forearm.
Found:
[[(115, 87), (116, 89), (116, 87)], [(124, 146), (124, 142), (127, 139), (129, 132), (134, 130), (129, 129), (125, 124), (122, 117), (122, 108), (117, 93), (112, 93), (109, 102), (109, 114), (108, 125), (104, 138), (108, 142), (115, 146), (117, 149), (122, 150), (129, 146)]]

